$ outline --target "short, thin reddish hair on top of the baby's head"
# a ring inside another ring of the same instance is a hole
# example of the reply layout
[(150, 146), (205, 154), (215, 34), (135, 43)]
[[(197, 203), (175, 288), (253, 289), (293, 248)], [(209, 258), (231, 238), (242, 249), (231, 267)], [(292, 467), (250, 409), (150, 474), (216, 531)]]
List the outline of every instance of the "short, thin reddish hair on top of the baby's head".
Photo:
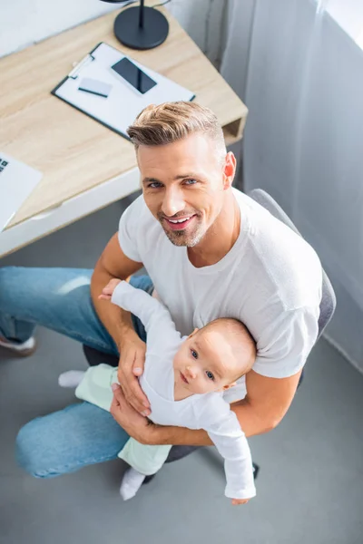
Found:
[[(246, 325), (233, 317), (214, 319), (205, 325), (203, 329), (219, 328), (221, 325), (223, 326), (223, 333), (226, 335), (226, 340), (231, 345), (233, 352), (240, 353), (240, 355), (247, 355), (247, 363), (244, 364), (243, 372), (240, 375), (247, 374), (255, 363), (257, 355), (256, 342), (253, 336)], [(240, 375), (238, 378), (240, 378)]]

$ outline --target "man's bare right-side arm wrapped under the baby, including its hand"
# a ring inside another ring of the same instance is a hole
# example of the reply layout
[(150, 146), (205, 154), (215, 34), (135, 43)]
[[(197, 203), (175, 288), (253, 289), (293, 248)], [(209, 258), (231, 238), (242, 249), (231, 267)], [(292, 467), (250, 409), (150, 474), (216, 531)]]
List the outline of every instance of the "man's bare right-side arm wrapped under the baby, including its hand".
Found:
[[(301, 371), (289, 378), (268, 378), (251, 370), (246, 375), (247, 396), (242, 401), (231, 404), (231, 410), (236, 413), (246, 437), (269, 432), (280, 423), (294, 398), (300, 374)], [(115, 388), (113, 395), (111, 413), (114, 419), (139, 442), (191, 446), (212, 444), (205, 431), (147, 424), (144, 418), (137, 418), (137, 414), (132, 416), (132, 407), (124, 403), (123, 393), (119, 388)]]

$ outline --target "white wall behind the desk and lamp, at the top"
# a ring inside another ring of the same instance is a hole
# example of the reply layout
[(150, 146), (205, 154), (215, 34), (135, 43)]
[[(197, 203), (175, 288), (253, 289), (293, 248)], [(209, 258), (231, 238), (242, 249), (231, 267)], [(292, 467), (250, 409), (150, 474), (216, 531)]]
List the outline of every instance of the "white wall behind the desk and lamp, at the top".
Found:
[[(225, 0), (172, 0), (167, 5), (213, 63), (220, 57), (224, 5)], [(0, 57), (119, 8), (100, 0), (1, 0)]]

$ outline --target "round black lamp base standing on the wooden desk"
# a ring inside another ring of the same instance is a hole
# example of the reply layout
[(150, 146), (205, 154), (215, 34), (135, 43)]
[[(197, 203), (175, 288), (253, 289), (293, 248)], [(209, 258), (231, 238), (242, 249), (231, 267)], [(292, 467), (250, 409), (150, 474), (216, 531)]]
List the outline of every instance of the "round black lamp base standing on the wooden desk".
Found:
[(123, 45), (132, 49), (152, 49), (164, 42), (169, 34), (168, 20), (152, 7), (143, 8), (143, 25), (139, 25), (140, 7), (129, 7), (114, 20), (113, 32)]

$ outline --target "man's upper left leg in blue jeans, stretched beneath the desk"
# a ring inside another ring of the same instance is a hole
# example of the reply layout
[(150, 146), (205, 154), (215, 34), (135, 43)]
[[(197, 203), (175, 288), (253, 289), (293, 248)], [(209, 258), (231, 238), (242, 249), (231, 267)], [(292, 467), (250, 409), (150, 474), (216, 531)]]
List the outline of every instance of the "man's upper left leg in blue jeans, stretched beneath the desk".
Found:
[(36, 325), (117, 355), (90, 294), (93, 271), (77, 268), (0, 268), (0, 336), (23, 343)]

